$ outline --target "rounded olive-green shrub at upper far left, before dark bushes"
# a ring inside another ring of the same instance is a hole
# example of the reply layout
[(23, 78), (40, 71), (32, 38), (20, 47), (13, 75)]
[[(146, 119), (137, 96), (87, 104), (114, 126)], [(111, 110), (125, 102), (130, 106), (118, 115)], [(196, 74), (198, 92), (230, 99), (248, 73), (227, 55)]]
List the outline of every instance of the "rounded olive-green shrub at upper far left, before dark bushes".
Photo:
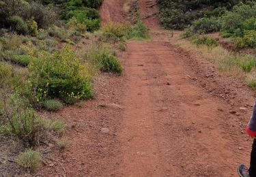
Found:
[(8, 24), (12, 31), (16, 31), (19, 34), (26, 34), (28, 32), (27, 24), (20, 16), (10, 16), (8, 18)]

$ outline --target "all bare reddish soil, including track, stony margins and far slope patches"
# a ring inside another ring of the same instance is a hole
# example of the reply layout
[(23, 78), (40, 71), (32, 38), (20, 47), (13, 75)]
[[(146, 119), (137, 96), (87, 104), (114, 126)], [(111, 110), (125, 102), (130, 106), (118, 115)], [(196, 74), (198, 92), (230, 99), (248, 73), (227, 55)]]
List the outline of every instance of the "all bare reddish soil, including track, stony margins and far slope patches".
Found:
[[(142, 14), (150, 12), (145, 3)], [(101, 9), (115, 14), (104, 22), (122, 20), (119, 5)], [(119, 56), (123, 76), (100, 76), (95, 99), (52, 115), (68, 122), (70, 144), (53, 151), (38, 176), (237, 176), (238, 164), (248, 164), (253, 92), (170, 44), (150, 18), (153, 40), (128, 42)]]

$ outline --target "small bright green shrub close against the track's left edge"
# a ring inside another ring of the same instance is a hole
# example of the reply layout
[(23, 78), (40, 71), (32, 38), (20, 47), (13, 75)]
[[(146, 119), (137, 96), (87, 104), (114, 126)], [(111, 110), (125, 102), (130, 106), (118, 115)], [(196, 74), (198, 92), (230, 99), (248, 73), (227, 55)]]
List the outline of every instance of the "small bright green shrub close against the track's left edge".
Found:
[(121, 63), (110, 54), (102, 54), (100, 70), (117, 74), (122, 74), (123, 71)]

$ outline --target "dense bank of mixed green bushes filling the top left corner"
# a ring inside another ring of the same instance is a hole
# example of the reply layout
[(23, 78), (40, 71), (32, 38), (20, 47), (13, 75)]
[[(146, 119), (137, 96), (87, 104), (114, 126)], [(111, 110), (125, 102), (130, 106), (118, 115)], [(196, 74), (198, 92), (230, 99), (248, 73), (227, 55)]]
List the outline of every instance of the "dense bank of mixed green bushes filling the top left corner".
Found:
[(88, 31), (94, 31), (100, 27), (100, 16), (95, 9), (100, 3), (101, 0), (1, 0), (0, 29), (37, 35), (38, 29), (48, 29), (74, 17)]

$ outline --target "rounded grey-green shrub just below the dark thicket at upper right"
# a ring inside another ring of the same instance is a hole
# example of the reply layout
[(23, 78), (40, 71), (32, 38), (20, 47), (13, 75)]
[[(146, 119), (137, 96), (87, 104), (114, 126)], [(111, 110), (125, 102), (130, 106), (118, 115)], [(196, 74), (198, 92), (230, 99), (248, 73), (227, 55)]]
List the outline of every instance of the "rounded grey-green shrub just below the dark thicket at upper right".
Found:
[(216, 17), (200, 18), (192, 22), (193, 31), (200, 33), (212, 33), (220, 31), (221, 22)]

